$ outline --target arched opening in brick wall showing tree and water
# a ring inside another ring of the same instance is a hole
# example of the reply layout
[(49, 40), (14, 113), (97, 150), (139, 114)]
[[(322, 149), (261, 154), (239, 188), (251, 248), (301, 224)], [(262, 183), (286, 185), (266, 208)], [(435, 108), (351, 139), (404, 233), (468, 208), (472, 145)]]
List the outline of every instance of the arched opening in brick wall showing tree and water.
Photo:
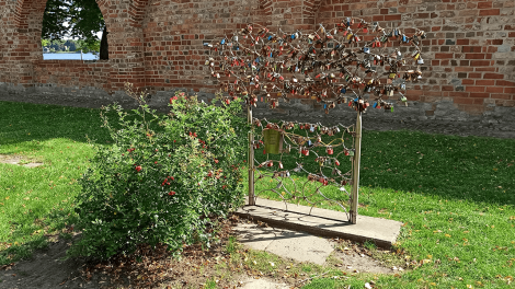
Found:
[(107, 31), (95, 0), (48, 0), (43, 15), (44, 60), (107, 60)]

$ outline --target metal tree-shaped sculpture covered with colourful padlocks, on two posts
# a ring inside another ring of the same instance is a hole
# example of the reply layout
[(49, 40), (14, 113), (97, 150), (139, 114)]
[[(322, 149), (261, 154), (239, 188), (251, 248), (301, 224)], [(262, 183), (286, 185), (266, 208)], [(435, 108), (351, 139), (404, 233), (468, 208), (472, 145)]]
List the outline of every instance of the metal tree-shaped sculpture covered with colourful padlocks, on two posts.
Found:
[[(408, 36), (410, 32), (411, 36)], [(340, 130), (339, 126), (331, 128), (320, 124), (282, 122), (281, 125), (268, 123), (264, 130), (279, 131), (283, 140), (284, 136), (288, 136), (286, 130), (296, 126), (309, 129), (310, 132), (314, 132), (313, 127), (319, 128), (318, 135), (311, 137), (299, 138), (291, 135), (291, 138), (286, 138), (290, 142), (285, 146), (296, 146), (295, 149), (304, 155), (314, 148), (325, 149), (330, 157), (317, 155), (316, 161), (329, 164), (339, 177), (329, 177), (321, 170), (320, 173), (309, 174), (308, 180), (318, 180), (322, 185), (332, 183), (341, 187), (352, 184), (353, 192), (348, 198), (350, 220), (355, 223), (362, 113), (370, 106), (393, 112), (396, 102), (408, 105), (404, 95), (407, 83), (416, 82), (422, 78), (420, 66), (424, 61), (421, 56), (421, 43), (424, 38), (425, 33), (417, 28), (388, 30), (378, 23), (370, 24), (363, 19), (347, 18), (330, 30), (320, 24), (317, 31), (310, 33), (286, 33), (282, 28), (272, 32), (267, 27), (255, 28), (249, 24), (233, 35), (224, 35), (204, 45), (209, 48), (206, 66), (209, 67), (210, 74), (218, 80), (224, 92), (222, 101), (229, 103), (231, 100), (244, 97), (249, 122), (255, 126), (261, 122), (252, 118), (252, 106), (256, 106), (260, 101), (267, 103), (270, 108), (275, 108), (279, 106), (279, 101), (288, 103), (291, 99), (311, 99), (323, 105), (325, 114), (342, 104), (357, 112), (356, 124), (352, 126), (354, 130), (344, 127), (344, 130), (354, 137), (354, 146), (348, 148), (344, 146), (343, 137), (339, 146), (327, 144), (321, 140), (321, 135), (329, 135), (330, 131), (334, 135), (334, 128)], [(409, 57), (404, 57), (402, 51)], [(249, 204), (254, 205), (254, 149), (259, 142), (254, 141), (252, 134), (249, 135)], [(332, 157), (333, 150), (339, 147), (341, 152)], [(336, 163), (340, 163), (337, 155), (351, 153), (352, 170), (342, 174), (336, 167)], [(270, 167), (270, 163), (273, 162), (268, 161), (266, 167)], [(263, 167), (263, 163), (256, 164)], [(297, 164), (297, 167), (283, 173), (275, 171), (272, 176), (289, 177), (290, 171), (300, 170), (301, 165)], [(277, 188), (283, 183), (278, 181), (278, 184)], [(316, 192), (323, 196), (319, 188)], [(304, 193), (302, 196), (290, 194), (289, 199), (297, 197), (308, 200)]]

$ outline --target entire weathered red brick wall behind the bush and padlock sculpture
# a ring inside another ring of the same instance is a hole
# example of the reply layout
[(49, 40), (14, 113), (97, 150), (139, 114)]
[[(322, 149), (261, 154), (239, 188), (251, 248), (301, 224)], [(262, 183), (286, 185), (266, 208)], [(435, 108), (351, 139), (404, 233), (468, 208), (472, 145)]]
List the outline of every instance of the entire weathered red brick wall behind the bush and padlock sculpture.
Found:
[[(104, 15), (110, 60), (43, 61), (41, 30), (46, 2), (0, 0), (0, 82), (3, 90), (52, 94), (57, 88), (96, 88), (121, 95), (124, 82), (148, 88), (157, 100), (178, 88), (213, 92), (216, 81), (204, 66), (204, 42), (255, 22), (285, 31), (313, 30), (343, 18), (382, 26), (419, 27), (424, 79), (409, 91), (409, 107), (392, 118), (512, 119), (515, 115), (515, 1), (465, 0), (98, 0)], [(402, 49), (402, 48), (401, 48)], [(44, 90), (38, 88), (45, 88)], [(61, 90), (59, 90), (61, 92)], [(0, 92), (1, 94), (1, 92)], [(23, 97), (23, 94), (18, 94)], [(81, 94), (82, 95), (82, 94)], [(94, 95), (92, 95), (94, 96)], [(57, 93), (56, 93), (56, 97)], [(263, 106), (261, 104), (261, 106)], [(282, 104), (276, 116), (323, 116), (317, 103)], [(264, 108), (258, 113), (270, 114)]]

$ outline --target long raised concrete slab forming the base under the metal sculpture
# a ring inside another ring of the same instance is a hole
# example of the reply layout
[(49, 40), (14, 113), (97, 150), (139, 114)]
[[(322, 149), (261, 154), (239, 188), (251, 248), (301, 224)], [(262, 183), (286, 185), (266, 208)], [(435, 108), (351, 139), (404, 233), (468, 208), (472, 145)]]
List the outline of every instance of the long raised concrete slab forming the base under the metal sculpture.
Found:
[[(244, 206), (236, 213), (240, 217), (260, 220), (271, 226), (316, 235), (340, 238), (356, 242), (370, 240), (377, 246), (389, 248), (399, 235), (402, 223), (399, 221), (357, 217), (357, 223), (346, 222), (344, 212), (299, 206), (268, 199), (256, 200), (256, 206)], [(309, 215), (311, 210), (311, 215)]]

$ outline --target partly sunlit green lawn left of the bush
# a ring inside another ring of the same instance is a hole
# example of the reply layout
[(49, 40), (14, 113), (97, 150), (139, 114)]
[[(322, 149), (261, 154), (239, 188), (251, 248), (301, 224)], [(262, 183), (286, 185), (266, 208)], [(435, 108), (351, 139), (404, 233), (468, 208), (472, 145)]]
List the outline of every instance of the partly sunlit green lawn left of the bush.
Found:
[(106, 143), (99, 109), (0, 102), (0, 153), (42, 161), (33, 169), (0, 163), (0, 264), (31, 255), (73, 221), (77, 180)]

